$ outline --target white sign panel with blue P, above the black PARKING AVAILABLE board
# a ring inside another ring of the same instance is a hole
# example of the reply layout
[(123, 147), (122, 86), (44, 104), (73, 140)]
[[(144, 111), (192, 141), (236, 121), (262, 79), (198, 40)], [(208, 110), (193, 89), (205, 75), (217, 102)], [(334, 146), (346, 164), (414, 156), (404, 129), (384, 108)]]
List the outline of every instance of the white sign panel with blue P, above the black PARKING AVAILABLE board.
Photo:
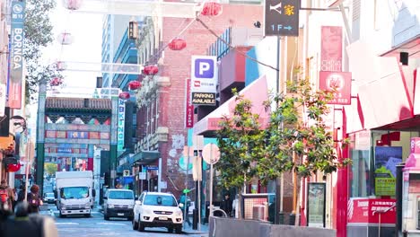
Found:
[(216, 57), (191, 57), (191, 92), (215, 93), (217, 78)]

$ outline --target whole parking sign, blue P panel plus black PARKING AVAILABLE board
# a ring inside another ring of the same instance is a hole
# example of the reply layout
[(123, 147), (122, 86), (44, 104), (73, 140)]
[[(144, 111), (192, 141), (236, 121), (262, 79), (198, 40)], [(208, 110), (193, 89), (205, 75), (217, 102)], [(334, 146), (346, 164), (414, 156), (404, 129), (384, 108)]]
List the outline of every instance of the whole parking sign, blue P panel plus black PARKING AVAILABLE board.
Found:
[(215, 106), (217, 78), (217, 57), (191, 57), (192, 104)]

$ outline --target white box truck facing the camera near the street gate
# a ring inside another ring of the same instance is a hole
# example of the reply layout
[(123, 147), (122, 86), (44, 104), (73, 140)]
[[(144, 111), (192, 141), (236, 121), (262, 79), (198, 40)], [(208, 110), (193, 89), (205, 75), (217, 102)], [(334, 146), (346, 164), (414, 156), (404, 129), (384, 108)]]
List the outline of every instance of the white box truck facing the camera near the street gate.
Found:
[(60, 217), (91, 216), (95, 197), (92, 171), (56, 172), (56, 189)]

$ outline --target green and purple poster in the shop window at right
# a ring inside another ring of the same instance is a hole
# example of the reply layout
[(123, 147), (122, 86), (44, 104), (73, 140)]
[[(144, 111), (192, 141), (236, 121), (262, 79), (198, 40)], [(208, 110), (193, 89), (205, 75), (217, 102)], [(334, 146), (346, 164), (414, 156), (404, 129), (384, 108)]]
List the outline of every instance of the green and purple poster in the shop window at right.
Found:
[(395, 196), (396, 165), (402, 162), (401, 146), (375, 147), (375, 195)]

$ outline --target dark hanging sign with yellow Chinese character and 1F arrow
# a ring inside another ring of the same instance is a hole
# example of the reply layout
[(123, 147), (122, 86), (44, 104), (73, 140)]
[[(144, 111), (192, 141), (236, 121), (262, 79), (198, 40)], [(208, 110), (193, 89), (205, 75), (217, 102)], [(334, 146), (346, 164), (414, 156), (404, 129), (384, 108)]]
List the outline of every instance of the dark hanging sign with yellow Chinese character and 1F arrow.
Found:
[(266, 0), (266, 36), (299, 36), (301, 0)]

